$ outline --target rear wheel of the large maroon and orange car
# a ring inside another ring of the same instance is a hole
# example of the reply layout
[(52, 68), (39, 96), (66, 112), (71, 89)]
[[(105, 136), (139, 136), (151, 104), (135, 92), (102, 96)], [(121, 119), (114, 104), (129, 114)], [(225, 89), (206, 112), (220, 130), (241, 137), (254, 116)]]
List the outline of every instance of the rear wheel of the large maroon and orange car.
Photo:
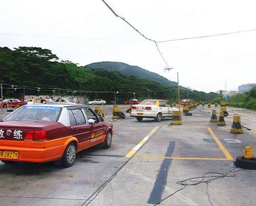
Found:
[(71, 142), (68, 144), (68, 146), (65, 149), (65, 152), (63, 153), (61, 165), (63, 167), (71, 167), (74, 165), (75, 160), (76, 160), (76, 143)]

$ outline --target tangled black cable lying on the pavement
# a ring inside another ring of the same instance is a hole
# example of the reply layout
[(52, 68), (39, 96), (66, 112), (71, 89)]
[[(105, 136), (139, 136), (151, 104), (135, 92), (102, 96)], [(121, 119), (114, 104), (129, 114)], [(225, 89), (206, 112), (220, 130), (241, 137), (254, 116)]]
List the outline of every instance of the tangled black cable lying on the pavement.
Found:
[[(234, 168), (236, 169), (236, 168)], [(187, 186), (195, 186), (195, 185), (199, 185), (201, 183), (210, 183), (210, 181), (213, 181), (215, 179), (219, 179), (219, 178), (224, 178), (224, 177), (234, 177), (236, 176), (236, 172), (239, 172), (239, 171), (243, 171), (245, 169), (240, 169), (240, 170), (236, 170), (236, 171), (233, 171), (234, 169), (230, 170), (229, 172), (227, 173), (220, 173), (220, 172), (206, 172), (203, 174), (203, 176), (199, 176), (199, 177), (192, 177), (192, 178), (188, 178), (188, 179), (185, 179), (183, 181), (178, 181), (177, 184), (178, 185), (182, 185), (184, 186), (183, 188), (175, 191), (174, 193), (168, 195), (167, 197), (163, 198), (161, 201), (157, 202), (156, 204), (154, 205), (158, 205), (160, 204), (161, 202), (163, 202), (164, 200), (166, 200), (167, 198), (173, 196), (174, 194), (176, 194), (177, 192), (181, 191), (181, 190), (184, 190)], [(229, 173), (233, 173), (232, 175), (228, 175)], [(211, 174), (216, 174), (216, 175), (211, 175)], [(195, 181), (195, 179), (201, 179), (201, 181)], [(192, 182), (192, 183), (187, 183), (187, 182)]]

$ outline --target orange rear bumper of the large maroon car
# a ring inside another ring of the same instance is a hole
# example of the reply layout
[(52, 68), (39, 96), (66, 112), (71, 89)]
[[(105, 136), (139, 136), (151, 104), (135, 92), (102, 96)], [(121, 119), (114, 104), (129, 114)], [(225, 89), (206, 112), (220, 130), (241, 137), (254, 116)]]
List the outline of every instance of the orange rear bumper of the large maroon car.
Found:
[(26, 148), (26, 147), (13, 147), (13, 146), (0, 146), (0, 150), (5, 151), (17, 151), (18, 159), (3, 159), (6, 161), (18, 161), (18, 162), (33, 162), (33, 163), (45, 163), (58, 161), (65, 151), (66, 145), (59, 145), (50, 148)]

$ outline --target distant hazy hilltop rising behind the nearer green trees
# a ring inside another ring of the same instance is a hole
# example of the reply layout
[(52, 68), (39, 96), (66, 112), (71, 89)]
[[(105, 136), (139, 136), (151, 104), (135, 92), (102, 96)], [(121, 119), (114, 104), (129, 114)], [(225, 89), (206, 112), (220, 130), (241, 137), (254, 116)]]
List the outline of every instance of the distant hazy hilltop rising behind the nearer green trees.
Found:
[(140, 78), (158, 82), (167, 87), (177, 86), (176, 82), (169, 81), (157, 73), (148, 71), (138, 66), (131, 66), (122, 62), (95, 62), (88, 64), (87, 67), (92, 69), (102, 68), (110, 71), (118, 71), (126, 76), (135, 75)]

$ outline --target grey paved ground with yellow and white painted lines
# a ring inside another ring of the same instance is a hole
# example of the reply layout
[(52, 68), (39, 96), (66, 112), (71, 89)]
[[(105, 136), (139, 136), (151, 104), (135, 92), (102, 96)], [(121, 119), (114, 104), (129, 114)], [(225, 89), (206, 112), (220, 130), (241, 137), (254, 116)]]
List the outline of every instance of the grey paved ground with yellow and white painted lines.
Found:
[[(103, 108), (110, 120), (111, 107)], [(233, 161), (246, 145), (256, 153), (256, 113), (228, 111), (227, 126), (209, 123), (207, 107), (182, 116), (182, 125), (171, 125), (170, 119), (137, 122), (129, 116), (113, 120), (112, 147), (96, 146), (78, 153), (71, 168), (0, 163), (0, 204), (154, 205), (163, 200), (161, 205), (255, 205), (256, 171), (236, 168)], [(249, 129), (243, 128), (244, 134), (229, 133), (234, 113)], [(0, 111), (0, 119), (6, 115)], [(227, 173), (227, 177), (191, 185), (202, 181), (193, 179), (186, 187), (177, 184), (207, 172)]]

